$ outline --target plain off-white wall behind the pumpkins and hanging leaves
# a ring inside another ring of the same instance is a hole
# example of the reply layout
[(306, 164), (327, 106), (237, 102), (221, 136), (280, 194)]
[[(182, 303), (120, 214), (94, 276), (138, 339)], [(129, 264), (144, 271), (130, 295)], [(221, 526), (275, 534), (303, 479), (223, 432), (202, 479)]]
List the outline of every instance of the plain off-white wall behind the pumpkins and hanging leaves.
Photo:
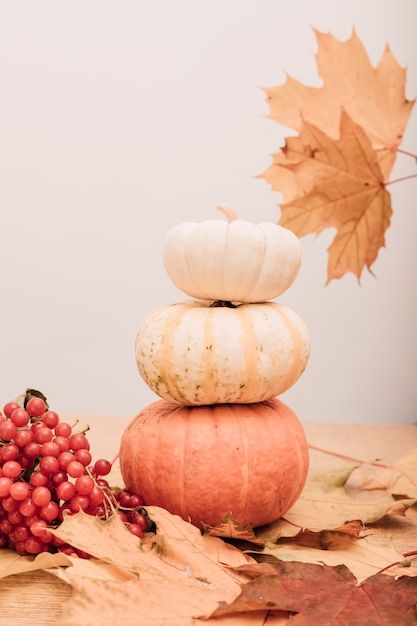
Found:
[[(414, 0), (1, 0), (0, 404), (27, 386), (61, 411), (133, 415), (156, 399), (133, 345), (149, 311), (184, 298), (162, 265), (168, 230), (217, 202), (278, 219), (257, 175), (288, 130), (261, 88), (285, 72), (320, 85), (312, 27), (355, 27), (372, 63), (390, 45), (414, 98), (416, 18)], [(393, 177), (415, 171), (401, 157)], [(390, 191), (386, 248), (360, 286), (325, 287), (331, 231), (302, 239), (281, 300), (311, 332), (282, 396), (303, 421), (417, 419), (417, 180)]]

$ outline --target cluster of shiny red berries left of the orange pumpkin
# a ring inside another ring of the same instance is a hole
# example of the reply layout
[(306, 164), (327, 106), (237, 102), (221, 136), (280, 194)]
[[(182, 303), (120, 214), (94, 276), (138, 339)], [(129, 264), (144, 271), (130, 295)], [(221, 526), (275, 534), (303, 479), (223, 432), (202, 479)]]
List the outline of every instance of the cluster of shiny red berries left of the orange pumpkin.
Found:
[(49, 410), (40, 392), (7, 402), (0, 412), (0, 548), (19, 554), (65, 552), (88, 557), (51, 533), (64, 514), (119, 515), (141, 537), (149, 520), (139, 495), (112, 489), (110, 461), (92, 462), (84, 432)]

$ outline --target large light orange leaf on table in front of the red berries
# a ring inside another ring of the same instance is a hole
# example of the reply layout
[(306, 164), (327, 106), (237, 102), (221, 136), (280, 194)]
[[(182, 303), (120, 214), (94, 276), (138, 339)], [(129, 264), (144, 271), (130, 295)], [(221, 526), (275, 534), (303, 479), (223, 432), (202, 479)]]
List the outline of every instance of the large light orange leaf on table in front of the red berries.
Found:
[[(124, 624), (128, 619), (132, 624), (134, 619), (141, 624), (193, 623), (190, 620), (208, 617), (220, 601), (231, 602), (239, 594), (245, 578), (234, 568), (252, 561), (250, 557), (217, 537), (203, 536), (164, 509), (147, 511), (157, 531), (145, 541), (129, 533), (118, 516), (108, 521), (82, 512), (65, 517), (55, 534), (95, 559), (88, 571), (80, 565), (65, 572), (74, 593), (62, 624), (87, 626), (89, 619), (95, 626), (102, 623), (99, 620), (108, 623), (113, 610), (120, 615), (120, 606)], [(124, 579), (119, 572), (126, 574)], [(82, 598), (88, 598), (88, 612)], [(93, 613), (92, 598), (97, 603)]]

